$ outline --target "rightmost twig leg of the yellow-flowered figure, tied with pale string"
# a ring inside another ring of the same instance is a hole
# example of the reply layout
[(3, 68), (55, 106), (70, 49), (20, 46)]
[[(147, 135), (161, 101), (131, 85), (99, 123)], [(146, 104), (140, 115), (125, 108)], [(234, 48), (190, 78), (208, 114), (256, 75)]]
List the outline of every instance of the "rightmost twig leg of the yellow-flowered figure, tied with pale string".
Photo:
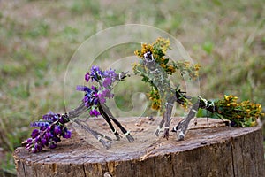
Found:
[(173, 128), (173, 131), (177, 132), (177, 140), (184, 140), (184, 137), (187, 133), (187, 127), (190, 123), (190, 121), (196, 116), (196, 113), (199, 109), (200, 101), (198, 100), (195, 104), (193, 104), (190, 112), (186, 116), (185, 119), (180, 121), (176, 127)]

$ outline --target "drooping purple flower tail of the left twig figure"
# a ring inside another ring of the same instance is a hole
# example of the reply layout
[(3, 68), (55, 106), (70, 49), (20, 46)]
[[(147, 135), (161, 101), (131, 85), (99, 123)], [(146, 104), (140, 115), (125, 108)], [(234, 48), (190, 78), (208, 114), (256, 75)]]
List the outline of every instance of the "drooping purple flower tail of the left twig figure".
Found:
[(38, 152), (45, 146), (50, 149), (56, 148), (57, 142), (61, 141), (61, 136), (71, 137), (71, 131), (65, 126), (69, 121), (67, 115), (49, 112), (43, 115), (42, 120), (31, 123), (31, 127), (40, 128), (34, 129), (31, 138), (27, 139), (27, 150)]

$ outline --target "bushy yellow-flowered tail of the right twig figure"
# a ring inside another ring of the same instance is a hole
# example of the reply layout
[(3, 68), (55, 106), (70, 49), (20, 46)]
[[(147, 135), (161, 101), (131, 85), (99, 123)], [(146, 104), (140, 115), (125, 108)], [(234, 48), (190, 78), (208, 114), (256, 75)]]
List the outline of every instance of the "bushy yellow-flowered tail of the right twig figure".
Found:
[(254, 104), (249, 101), (237, 102), (237, 96), (223, 96), (222, 100), (216, 101), (217, 113), (224, 119), (229, 119), (235, 126), (253, 127), (257, 119), (264, 116), (261, 113), (261, 104)]

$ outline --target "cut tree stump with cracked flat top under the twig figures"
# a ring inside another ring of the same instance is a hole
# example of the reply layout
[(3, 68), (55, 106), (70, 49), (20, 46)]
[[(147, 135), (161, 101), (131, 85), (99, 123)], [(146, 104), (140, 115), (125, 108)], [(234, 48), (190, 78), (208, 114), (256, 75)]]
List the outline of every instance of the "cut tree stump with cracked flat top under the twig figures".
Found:
[[(175, 123), (179, 120), (173, 119)], [(136, 140), (123, 142), (123, 146), (129, 148), (140, 142), (137, 132), (139, 127), (145, 128), (146, 118), (140, 122), (141, 125), (126, 125)], [(170, 132), (169, 140), (156, 138), (144, 149), (140, 142), (139, 150), (131, 152), (114, 147), (117, 152), (110, 153), (73, 133), (71, 139), (59, 142), (54, 150), (31, 153), (19, 147), (13, 156), (19, 177), (264, 176), (261, 127), (227, 127), (216, 119), (209, 119), (209, 124), (202, 118), (197, 122), (189, 127), (184, 141), (177, 142), (176, 134)]]

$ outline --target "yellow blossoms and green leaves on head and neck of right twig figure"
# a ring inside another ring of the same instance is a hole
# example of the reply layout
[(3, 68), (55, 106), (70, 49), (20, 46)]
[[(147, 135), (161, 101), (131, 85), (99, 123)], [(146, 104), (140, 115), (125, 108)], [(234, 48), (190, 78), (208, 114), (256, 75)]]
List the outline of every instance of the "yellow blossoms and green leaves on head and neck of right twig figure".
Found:
[[(145, 65), (143, 65), (144, 62), (142, 62), (144, 60), (145, 53), (151, 52), (153, 58), (155, 59), (155, 63), (159, 65), (160, 68), (163, 68), (161, 70), (163, 74), (160, 74), (160, 76), (163, 78), (159, 78), (159, 80), (167, 80), (168, 75), (175, 73), (177, 70), (179, 70), (181, 75), (186, 73), (189, 74), (191, 79), (195, 79), (199, 76), (200, 65), (192, 65), (190, 62), (186, 61), (170, 61), (169, 58), (166, 58), (167, 50), (170, 50), (170, 40), (159, 37), (151, 44), (142, 43), (141, 50), (134, 51), (134, 54), (140, 58), (140, 62), (138, 64), (133, 64), (133, 72), (135, 74), (140, 74), (140, 76), (142, 76), (142, 81), (148, 82), (150, 84), (151, 90), (149, 92), (149, 99), (152, 101), (152, 109), (155, 110), (163, 110), (163, 105), (161, 104), (163, 96), (159, 95), (157, 85), (153, 83), (154, 80), (150, 80), (150, 78), (153, 76), (146, 73)], [(168, 85), (165, 85), (165, 87), (168, 87)], [(163, 90), (166, 89), (170, 89), (170, 86), (169, 88), (163, 88)], [(190, 103), (187, 99), (183, 100), (184, 101), (181, 103), (181, 105), (186, 108)]]

